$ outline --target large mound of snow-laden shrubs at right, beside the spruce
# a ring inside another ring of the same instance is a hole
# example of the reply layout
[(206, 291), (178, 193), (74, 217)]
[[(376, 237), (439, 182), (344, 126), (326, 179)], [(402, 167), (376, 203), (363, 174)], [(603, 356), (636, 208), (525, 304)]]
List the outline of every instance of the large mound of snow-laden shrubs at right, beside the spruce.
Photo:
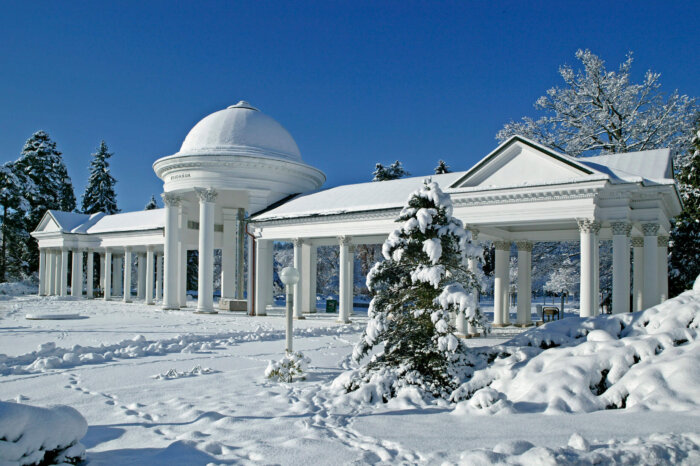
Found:
[(700, 292), (645, 311), (570, 317), (490, 349), (454, 394), (456, 412), (591, 412), (700, 407)]

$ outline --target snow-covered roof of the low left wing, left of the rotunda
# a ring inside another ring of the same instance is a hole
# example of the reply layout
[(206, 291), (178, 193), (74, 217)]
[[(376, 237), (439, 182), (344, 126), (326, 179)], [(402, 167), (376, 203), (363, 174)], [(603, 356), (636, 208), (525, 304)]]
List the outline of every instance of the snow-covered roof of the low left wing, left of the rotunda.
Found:
[[(165, 227), (165, 209), (140, 210), (123, 214), (79, 214), (49, 210), (47, 215), (63, 233), (109, 233), (119, 231), (155, 230)], [(40, 223), (39, 229), (41, 228)]]

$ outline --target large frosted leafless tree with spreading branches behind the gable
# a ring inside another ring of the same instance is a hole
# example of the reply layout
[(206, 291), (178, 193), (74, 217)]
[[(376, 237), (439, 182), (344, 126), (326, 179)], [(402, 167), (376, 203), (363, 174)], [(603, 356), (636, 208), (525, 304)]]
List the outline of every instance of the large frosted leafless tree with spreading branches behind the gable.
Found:
[(496, 135), (504, 141), (520, 134), (572, 156), (634, 152), (670, 147), (685, 154), (693, 126), (695, 99), (678, 91), (664, 98), (660, 74), (647, 71), (641, 84), (630, 81), (632, 54), (618, 71), (590, 50), (578, 50), (583, 69), (559, 68), (564, 87), (537, 99), (543, 115), (506, 124)]

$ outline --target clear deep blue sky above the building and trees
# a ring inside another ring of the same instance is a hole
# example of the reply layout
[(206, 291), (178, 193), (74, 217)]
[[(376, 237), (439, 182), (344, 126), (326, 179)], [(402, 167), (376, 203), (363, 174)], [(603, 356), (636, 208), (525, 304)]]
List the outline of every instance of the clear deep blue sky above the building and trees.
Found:
[(0, 160), (38, 129), (80, 199), (100, 140), (122, 210), (207, 114), (248, 100), (294, 136), (326, 186), (374, 164), (464, 170), (534, 114), (589, 48), (639, 80), (700, 96), (700, 2), (0, 2)]

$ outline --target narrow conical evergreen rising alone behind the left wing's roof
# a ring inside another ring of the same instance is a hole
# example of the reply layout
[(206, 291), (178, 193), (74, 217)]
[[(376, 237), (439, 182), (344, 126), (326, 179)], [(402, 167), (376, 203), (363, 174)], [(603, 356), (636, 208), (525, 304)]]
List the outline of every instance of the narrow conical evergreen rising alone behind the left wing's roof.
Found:
[(111, 215), (119, 212), (117, 194), (114, 191), (117, 180), (110, 173), (107, 161), (112, 155), (104, 141), (100, 143), (97, 152), (92, 154), (90, 177), (83, 194), (83, 213), (104, 212)]

